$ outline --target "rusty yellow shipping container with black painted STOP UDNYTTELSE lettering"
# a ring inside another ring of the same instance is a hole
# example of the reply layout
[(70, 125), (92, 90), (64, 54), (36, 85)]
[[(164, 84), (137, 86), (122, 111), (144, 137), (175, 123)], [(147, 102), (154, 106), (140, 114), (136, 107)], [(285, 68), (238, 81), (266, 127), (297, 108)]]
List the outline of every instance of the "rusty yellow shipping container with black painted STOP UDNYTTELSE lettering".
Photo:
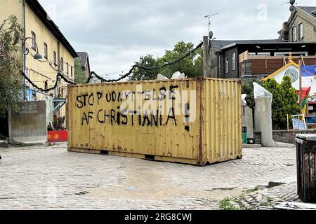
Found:
[(68, 150), (206, 165), (242, 158), (240, 80), (70, 85)]

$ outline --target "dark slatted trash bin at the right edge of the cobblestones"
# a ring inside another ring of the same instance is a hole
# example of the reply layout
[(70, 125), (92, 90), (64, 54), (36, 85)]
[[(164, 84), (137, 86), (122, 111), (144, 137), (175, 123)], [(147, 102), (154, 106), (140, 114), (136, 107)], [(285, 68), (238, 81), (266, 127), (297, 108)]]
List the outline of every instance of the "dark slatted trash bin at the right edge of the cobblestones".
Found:
[(296, 136), (298, 196), (307, 202), (316, 203), (316, 134)]

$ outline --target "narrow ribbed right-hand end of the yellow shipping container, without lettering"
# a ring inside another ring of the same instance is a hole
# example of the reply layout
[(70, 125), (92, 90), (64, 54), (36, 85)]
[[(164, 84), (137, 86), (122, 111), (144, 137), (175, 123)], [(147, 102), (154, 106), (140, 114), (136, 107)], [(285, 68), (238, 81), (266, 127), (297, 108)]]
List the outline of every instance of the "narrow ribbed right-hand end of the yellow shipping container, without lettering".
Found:
[(240, 80), (204, 80), (204, 162), (215, 163), (242, 158), (241, 93)]

